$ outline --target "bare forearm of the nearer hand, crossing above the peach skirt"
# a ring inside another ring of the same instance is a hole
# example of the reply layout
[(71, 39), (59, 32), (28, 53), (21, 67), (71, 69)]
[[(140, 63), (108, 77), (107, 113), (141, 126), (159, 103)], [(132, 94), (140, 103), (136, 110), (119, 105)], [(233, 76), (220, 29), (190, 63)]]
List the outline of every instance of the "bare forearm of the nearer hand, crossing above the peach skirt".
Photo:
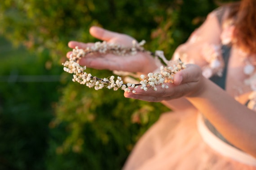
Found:
[(204, 88), (187, 99), (230, 143), (256, 157), (256, 113), (211, 81), (202, 81)]

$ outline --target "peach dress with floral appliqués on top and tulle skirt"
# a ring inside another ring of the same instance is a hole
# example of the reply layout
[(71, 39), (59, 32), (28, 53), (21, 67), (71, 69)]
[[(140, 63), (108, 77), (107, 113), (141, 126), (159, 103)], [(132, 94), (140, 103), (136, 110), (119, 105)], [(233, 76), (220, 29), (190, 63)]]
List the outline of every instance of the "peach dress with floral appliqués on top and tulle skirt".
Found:
[[(221, 48), (212, 46), (211, 43), (205, 43), (205, 46), (200, 42), (202, 41), (201, 37), (197, 36), (201, 31), (204, 31), (207, 24), (212, 26), (211, 22), (216, 22), (216, 18), (223, 10), (217, 9), (212, 12), (207, 20), (214, 21), (206, 21), (194, 33), (195, 36), (192, 34), (188, 42), (179, 47), (173, 56), (174, 58), (183, 58), (190, 63), (199, 64), (202, 66), (204, 76), (223, 76), (223, 70), (225, 71), (225, 67), (227, 67), (225, 61), (218, 58)], [(225, 33), (227, 30), (221, 31)], [(222, 43), (228, 42), (227, 39), (230, 36), (225, 34), (221, 34), (221, 36)], [(208, 65), (196, 63), (197, 59), (193, 60), (193, 58), (188, 57), (193, 53), (189, 50), (194, 49), (193, 44), (197, 42), (201, 44), (201, 56), (208, 57), (205, 59), (208, 59)], [(238, 55), (234, 50), (236, 49), (230, 51), (230, 55)], [(209, 59), (209, 56), (212, 58)], [(248, 72), (250, 71), (246, 64), (243, 68), (246, 68)], [(253, 81), (250, 82), (251, 84), (249, 84), (252, 85)], [(242, 90), (240, 92), (248, 92), (250, 85), (241, 85), (240, 89)], [(235, 90), (229, 92), (232, 92), (234, 98), (239, 98), (240, 92)], [(256, 170), (256, 158), (224, 142), (221, 137), (217, 137), (206, 126), (202, 114), (198, 110), (190, 108), (163, 113), (159, 120), (137, 142), (123, 170)]]

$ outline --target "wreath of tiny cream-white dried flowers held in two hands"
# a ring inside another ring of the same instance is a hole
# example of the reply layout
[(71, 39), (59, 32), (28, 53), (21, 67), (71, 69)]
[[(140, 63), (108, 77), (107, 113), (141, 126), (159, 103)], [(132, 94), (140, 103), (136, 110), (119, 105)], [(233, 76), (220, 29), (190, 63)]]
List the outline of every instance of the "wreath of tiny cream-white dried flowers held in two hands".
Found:
[[(75, 47), (68, 61), (63, 63), (64, 71), (73, 74), (73, 81), (77, 81), (80, 84), (86, 85), (94, 89), (102, 89), (104, 87), (108, 89), (122, 89), (126, 92), (136, 93), (136, 89), (140, 86), (141, 89), (145, 91), (148, 88), (153, 88), (157, 90), (156, 85), (161, 85), (162, 88), (168, 88), (167, 82), (173, 82), (173, 76), (176, 72), (185, 68), (185, 64), (179, 59), (177, 61), (168, 61), (163, 55), (163, 51), (155, 51), (154, 53), (146, 51), (142, 46), (145, 41), (137, 43), (134, 41), (132, 47), (122, 47), (119, 44), (96, 42), (92, 47), (87, 47), (86, 49), (79, 49)], [(91, 53), (101, 53), (101, 54), (115, 54), (115, 55), (135, 55), (137, 52), (150, 52), (151, 55), (161, 58), (166, 66), (160, 67), (160, 72), (149, 73), (147, 76), (141, 75), (141, 81), (138, 84), (127, 83), (124, 84), (122, 78), (117, 76), (110, 76), (108, 78), (98, 78), (90, 73), (85, 72), (86, 66), (82, 67), (79, 65), (79, 59), (85, 57)]]

